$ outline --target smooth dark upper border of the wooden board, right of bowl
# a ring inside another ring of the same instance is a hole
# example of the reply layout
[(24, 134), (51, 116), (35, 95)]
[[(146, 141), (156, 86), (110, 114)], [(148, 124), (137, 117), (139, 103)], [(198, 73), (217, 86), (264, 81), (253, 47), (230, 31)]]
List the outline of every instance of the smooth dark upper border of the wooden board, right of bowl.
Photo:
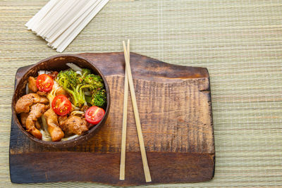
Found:
[[(125, 63), (123, 52), (111, 52), (111, 53), (83, 53), (78, 54), (78, 56), (82, 56), (89, 61), (102, 61), (104, 56), (109, 55), (112, 61), (117, 60), (118, 62), (123, 62), (121, 66), (119, 63), (111, 63), (111, 64), (102, 64), (102, 66), (98, 66), (100, 70), (104, 73), (104, 75), (124, 75)], [(95, 57), (95, 58), (93, 58)], [(130, 52), (130, 64), (133, 72), (133, 79), (138, 78), (142, 80), (154, 80), (158, 79), (161, 81), (168, 81), (175, 79), (183, 79), (183, 78), (204, 78), (209, 77), (207, 68), (201, 67), (191, 67), (184, 65), (173, 65), (170, 63), (165, 63), (159, 61), (154, 58), (149, 58), (147, 56), (142, 56), (140, 54), (136, 54)], [(146, 75), (149, 74), (150, 77)]]

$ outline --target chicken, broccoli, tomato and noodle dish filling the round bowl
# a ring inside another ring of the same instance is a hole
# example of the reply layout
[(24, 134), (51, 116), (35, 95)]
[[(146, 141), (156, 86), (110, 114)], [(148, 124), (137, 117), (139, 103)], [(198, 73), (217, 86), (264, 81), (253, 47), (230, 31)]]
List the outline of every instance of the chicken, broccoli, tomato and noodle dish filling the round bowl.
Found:
[(100, 75), (74, 63), (28, 77), (15, 111), (25, 130), (43, 141), (66, 141), (85, 134), (105, 115), (106, 89)]

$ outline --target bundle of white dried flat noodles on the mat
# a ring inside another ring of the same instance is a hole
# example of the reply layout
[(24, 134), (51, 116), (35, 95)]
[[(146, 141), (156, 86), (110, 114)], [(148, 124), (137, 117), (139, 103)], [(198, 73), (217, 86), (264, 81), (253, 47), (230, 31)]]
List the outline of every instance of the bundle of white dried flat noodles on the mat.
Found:
[(63, 52), (109, 0), (51, 0), (26, 24), (48, 46)]

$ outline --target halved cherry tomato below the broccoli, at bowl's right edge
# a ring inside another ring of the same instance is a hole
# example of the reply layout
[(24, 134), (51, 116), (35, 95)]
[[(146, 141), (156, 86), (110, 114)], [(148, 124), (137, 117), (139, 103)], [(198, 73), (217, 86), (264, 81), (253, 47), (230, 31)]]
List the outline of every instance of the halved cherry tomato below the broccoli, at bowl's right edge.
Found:
[(85, 113), (85, 119), (88, 123), (92, 123), (97, 125), (105, 115), (105, 111), (103, 108), (99, 108), (97, 106), (91, 106), (87, 109)]

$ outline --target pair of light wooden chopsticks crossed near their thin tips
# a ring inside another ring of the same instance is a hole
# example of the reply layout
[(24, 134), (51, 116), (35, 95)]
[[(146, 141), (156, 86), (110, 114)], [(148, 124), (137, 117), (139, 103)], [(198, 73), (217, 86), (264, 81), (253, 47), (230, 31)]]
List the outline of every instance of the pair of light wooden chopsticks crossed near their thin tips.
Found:
[(128, 46), (125, 46), (125, 42), (123, 41), (123, 49), (124, 49), (124, 58), (125, 58), (125, 78), (124, 78), (124, 98), (123, 98), (123, 130), (121, 135), (121, 167), (120, 167), (120, 180), (125, 180), (125, 140), (126, 140), (126, 120), (127, 120), (127, 111), (128, 111), (128, 84), (130, 88), (131, 100), (133, 103), (133, 111), (135, 116), (135, 123), (137, 129), (137, 135), (139, 139), (140, 151), (142, 156), (143, 169), (145, 173), (146, 182), (152, 182), (151, 175), (149, 172), (149, 166), (147, 162), (147, 156), (145, 151), (145, 145), (142, 135), (141, 123), (139, 112), (136, 103), (135, 89), (133, 85), (133, 77), (130, 69), (130, 49), (129, 49), (129, 40)]

